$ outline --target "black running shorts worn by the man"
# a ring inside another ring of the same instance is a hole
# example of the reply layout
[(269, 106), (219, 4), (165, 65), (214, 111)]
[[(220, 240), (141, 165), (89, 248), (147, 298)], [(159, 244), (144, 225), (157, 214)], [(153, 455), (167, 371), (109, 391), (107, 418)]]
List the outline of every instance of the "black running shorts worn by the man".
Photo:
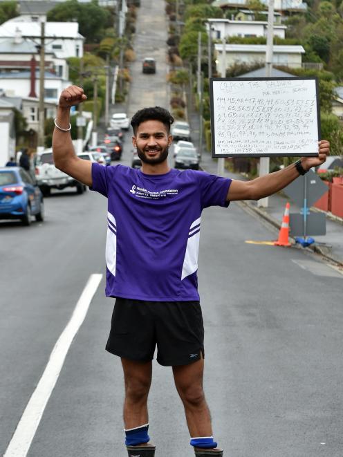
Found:
[(138, 362), (154, 358), (164, 366), (204, 357), (204, 329), (198, 301), (141, 301), (117, 298), (106, 351)]

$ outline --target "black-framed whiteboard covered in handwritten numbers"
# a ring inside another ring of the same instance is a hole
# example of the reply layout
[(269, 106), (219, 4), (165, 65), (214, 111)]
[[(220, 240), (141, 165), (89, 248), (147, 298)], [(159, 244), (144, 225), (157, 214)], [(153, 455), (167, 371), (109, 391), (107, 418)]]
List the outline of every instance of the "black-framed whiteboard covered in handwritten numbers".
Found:
[(212, 157), (317, 156), (316, 77), (210, 78)]

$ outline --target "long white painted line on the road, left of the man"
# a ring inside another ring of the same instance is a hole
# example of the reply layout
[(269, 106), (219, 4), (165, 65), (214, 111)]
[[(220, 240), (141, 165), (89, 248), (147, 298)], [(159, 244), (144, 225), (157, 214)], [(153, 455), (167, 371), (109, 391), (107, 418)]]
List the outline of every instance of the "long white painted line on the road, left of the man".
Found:
[(17, 429), (15, 429), (15, 433), (3, 457), (26, 457), (28, 454), (31, 442), (55, 387), (68, 350), (86, 317), (91, 300), (101, 280), (102, 274), (91, 274), (89, 277), (86, 287), (79, 301), (77, 301), (70, 321), (59, 336), (59, 339), (57, 339), (44, 373), (41, 375), (37, 387), (26, 405), (26, 409), (18, 422)]

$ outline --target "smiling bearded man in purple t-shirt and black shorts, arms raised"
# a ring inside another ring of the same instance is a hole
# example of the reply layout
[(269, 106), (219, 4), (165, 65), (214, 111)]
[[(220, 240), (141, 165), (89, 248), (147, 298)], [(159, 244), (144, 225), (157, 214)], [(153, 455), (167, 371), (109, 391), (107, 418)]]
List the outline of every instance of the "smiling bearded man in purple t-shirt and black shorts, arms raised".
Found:
[(147, 108), (132, 120), (133, 147), (142, 169), (102, 167), (75, 156), (69, 123), (71, 106), (86, 100), (69, 86), (60, 98), (53, 134), (55, 166), (108, 198), (106, 295), (116, 297), (107, 351), (122, 360), (125, 383), (124, 427), (129, 457), (153, 457), (147, 397), (151, 360), (173, 367), (185, 407), (190, 444), (196, 456), (223, 456), (212, 436), (203, 393), (203, 319), (197, 291), (198, 241), (205, 207), (228, 207), (231, 200), (258, 200), (283, 189), (319, 156), (249, 182), (203, 171), (178, 171), (167, 164), (174, 119), (165, 109)]

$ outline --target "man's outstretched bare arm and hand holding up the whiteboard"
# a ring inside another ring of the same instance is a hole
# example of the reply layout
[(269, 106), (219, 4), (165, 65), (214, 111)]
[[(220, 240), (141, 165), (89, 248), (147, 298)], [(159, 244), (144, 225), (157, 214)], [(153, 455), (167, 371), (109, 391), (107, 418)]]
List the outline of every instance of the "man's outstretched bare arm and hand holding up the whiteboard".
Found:
[[(326, 140), (319, 141), (318, 157), (303, 157), (302, 167), (309, 170), (321, 165), (330, 153), (330, 143)], [(298, 178), (299, 172), (294, 163), (288, 167), (275, 171), (275, 173), (260, 176), (251, 181), (232, 180), (226, 200), (259, 200), (268, 197)]]

